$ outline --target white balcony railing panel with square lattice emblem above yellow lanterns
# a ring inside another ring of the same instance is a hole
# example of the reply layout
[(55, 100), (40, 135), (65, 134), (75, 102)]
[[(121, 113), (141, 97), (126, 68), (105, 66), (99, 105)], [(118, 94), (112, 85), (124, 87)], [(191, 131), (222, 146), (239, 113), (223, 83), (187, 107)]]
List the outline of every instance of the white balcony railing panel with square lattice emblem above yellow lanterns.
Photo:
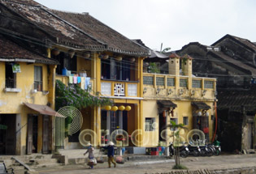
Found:
[(101, 93), (115, 97), (137, 97), (138, 83), (136, 81), (101, 81)]

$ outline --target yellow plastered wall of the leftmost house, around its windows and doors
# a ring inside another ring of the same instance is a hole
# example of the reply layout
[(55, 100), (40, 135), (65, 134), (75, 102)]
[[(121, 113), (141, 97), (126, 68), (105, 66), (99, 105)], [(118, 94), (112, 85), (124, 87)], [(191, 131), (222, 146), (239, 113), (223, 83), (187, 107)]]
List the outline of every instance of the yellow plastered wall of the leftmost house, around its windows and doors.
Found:
[[(54, 100), (53, 95), (44, 95), (42, 91), (37, 91), (37, 93), (34, 94), (31, 93), (34, 83), (34, 66), (42, 66), (43, 91), (51, 90), (53, 94), (54, 90), (49, 87), (54, 87), (54, 85), (48, 85), (47, 66), (43, 64), (27, 64), (26, 62), (20, 62), (21, 73), (16, 74), (16, 88), (21, 89), (21, 91), (5, 92), (5, 62), (0, 62), (0, 114), (20, 114), (21, 117), (20, 122), (16, 123), (16, 125), (22, 127), (22, 129), (20, 129), (20, 138), (16, 142), (18, 143), (17, 146), (20, 146), (20, 151), (17, 150), (17, 155), (24, 154), (26, 150), (28, 113), (39, 114), (26, 107), (23, 103), (46, 105), (49, 101), (48, 97), (50, 97), (51, 101)], [(54, 66), (50, 66), (50, 70), (54, 72)], [(39, 124), (38, 136), (41, 129), (41, 124)], [(41, 148), (42, 140), (38, 140), (38, 147)], [(41, 151), (41, 149), (38, 151)]]

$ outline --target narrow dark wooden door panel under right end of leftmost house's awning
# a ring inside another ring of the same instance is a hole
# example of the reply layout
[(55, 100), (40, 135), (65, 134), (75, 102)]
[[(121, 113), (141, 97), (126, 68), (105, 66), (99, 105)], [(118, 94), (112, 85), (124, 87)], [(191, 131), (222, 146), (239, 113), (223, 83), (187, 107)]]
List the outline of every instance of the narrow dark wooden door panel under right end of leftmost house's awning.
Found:
[(48, 154), (49, 153), (49, 125), (50, 125), (50, 118), (49, 116), (43, 116), (43, 147), (42, 153)]

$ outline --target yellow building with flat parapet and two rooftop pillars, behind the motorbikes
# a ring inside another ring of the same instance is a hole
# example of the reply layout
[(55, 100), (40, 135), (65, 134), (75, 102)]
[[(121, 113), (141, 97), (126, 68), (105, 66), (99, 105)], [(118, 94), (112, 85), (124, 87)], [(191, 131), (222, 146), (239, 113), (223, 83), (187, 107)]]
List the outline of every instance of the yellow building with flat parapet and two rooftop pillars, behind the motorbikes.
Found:
[[(207, 140), (213, 137), (216, 79), (193, 76), (192, 62), (188, 55), (173, 53), (168, 58), (169, 74), (143, 74), (141, 120), (144, 134), (150, 137), (145, 146), (165, 143), (163, 130), (171, 121), (184, 124), (188, 130), (201, 129)], [(182, 134), (186, 142), (187, 133)]]

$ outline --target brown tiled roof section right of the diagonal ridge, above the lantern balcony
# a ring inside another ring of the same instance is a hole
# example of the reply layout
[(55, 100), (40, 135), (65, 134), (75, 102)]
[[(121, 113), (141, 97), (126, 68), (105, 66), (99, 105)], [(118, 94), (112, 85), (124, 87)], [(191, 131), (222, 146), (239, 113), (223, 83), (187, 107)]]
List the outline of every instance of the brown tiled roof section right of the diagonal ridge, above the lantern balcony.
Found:
[(78, 14), (64, 11), (50, 11), (68, 23), (72, 23), (90, 36), (93, 36), (93, 38), (101, 40), (108, 46), (108, 50), (110, 51), (128, 54), (149, 54), (149, 49), (145, 49), (145, 47), (142, 47), (135, 41), (129, 40), (119, 32), (98, 21), (98, 19), (94, 19), (89, 13)]

